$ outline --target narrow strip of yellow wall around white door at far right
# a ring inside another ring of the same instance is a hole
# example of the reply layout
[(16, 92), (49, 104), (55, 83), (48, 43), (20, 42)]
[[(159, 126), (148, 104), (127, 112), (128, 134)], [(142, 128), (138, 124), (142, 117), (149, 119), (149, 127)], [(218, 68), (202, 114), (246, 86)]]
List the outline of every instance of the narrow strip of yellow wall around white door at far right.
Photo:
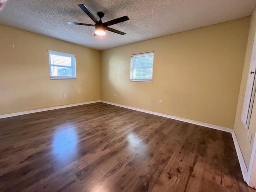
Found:
[[(254, 11), (254, 14), (251, 17), (250, 22), (250, 30), (249, 30), (249, 36), (248, 36), (248, 42), (247, 42), (247, 48), (246, 48), (246, 56), (244, 60), (244, 70), (242, 74), (242, 80), (241, 80), (241, 86), (240, 86), (240, 95), (245, 94), (246, 90), (246, 84), (247, 84), (247, 78), (248, 78), (248, 72), (250, 67), (250, 61), (252, 56), (252, 47), (254, 42), (254, 36), (255, 36), (255, 30), (256, 30), (256, 10)], [(241, 114), (242, 114), (242, 106), (244, 103), (243, 98), (238, 99), (238, 105), (237, 105), (237, 111), (236, 111), (236, 120), (234, 124), (234, 130), (236, 133), (236, 137), (240, 146), (240, 149), (242, 150), (242, 154), (246, 163), (246, 166), (248, 168), (250, 163), (250, 157), (252, 153), (252, 144), (254, 141), (255, 131), (256, 131), (256, 106), (254, 101), (254, 108), (252, 109), (252, 116), (251, 121), (249, 124), (249, 130), (252, 133), (252, 142), (250, 143), (250, 140), (247, 139), (246, 133), (247, 129), (241, 122)]]

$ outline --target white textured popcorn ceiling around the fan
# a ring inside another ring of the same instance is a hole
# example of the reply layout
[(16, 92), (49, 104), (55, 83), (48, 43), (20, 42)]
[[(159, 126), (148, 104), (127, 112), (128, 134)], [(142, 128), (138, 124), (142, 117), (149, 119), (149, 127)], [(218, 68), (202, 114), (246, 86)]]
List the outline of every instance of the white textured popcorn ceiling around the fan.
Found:
[[(94, 27), (67, 24), (94, 24), (77, 4), (95, 16), (104, 12), (103, 22), (127, 15), (130, 20), (110, 26), (127, 34), (99, 37)], [(256, 0), (9, 0), (0, 24), (105, 50), (249, 16), (255, 6)]]

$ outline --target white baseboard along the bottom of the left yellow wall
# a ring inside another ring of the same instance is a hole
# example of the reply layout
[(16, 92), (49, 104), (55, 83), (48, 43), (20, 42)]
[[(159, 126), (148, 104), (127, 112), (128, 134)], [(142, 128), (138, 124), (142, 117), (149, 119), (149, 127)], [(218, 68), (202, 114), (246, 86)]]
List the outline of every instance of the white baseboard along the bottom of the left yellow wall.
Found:
[(19, 115), (25, 115), (25, 114), (30, 114), (30, 113), (37, 113), (37, 112), (42, 112), (42, 111), (49, 111), (49, 110), (54, 110), (54, 109), (62, 109), (62, 108), (67, 108), (67, 107), (74, 107), (74, 106), (79, 106), (79, 105), (98, 103), (98, 102), (100, 102), (100, 100), (83, 102), (83, 103), (75, 103), (75, 104), (69, 104), (69, 105), (61, 105), (61, 106), (56, 106), (56, 107), (36, 109), (36, 110), (23, 111), (23, 112), (17, 112), (17, 113), (4, 114), (4, 115), (0, 115), (0, 119), (7, 118), (7, 117), (19, 116)]

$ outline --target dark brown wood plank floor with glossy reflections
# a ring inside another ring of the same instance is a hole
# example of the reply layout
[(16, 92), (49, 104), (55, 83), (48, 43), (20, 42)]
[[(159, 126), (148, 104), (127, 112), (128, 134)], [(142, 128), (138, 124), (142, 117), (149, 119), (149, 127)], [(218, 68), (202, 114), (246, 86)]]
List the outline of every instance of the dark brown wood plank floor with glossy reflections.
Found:
[(227, 132), (103, 103), (0, 126), (1, 192), (254, 191)]

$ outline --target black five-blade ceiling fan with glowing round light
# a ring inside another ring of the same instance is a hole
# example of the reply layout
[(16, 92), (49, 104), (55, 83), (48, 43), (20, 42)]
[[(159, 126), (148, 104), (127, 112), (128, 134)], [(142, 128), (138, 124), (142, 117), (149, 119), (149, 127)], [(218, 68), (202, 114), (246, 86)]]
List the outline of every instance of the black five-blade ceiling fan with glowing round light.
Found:
[(114, 20), (102, 23), (101, 19), (104, 17), (104, 15), (105, 15), (104, 13), (102, 13), (102, 12), (98, 12), (97, 13), (97, 15), (100, 18), (100, 20), (98, 21), (96, 19), (96, 17), (92, 14), (92, 12), (90, 12), (90, 10), (84, 4), (79, 4), (78, 6), (94, 21), (95, 24), (92, 25), (92, 24), (76, 23), (76, 22), (68, 22), (68, 24), (71, 24), (71, 25), (95, 26), (95, 33), (94, 33), (94, 35), (96, 35), (96, 36), (97, 35), (99, 35), (99, 36), (105, 35), (106, 34), (106, 30), (114, 32), (114, 33), (117, 33), (117, 34), (120, 34), (120, 35), (126, 34), (124, 32), (112, 29), (112, 28), (110, 28), (108, 26), (114, 25), (114, 24), (117, 24), (117, 23), (121, 23), (121, 22), (124, 22), (124, 21), (127, 21), (127, 20), (130, 20), (128, 18), (128, 16), (123, 16), (123, 17), (120, 17), (120, 18), (117, 18), (117, 19), (114, 19)]

